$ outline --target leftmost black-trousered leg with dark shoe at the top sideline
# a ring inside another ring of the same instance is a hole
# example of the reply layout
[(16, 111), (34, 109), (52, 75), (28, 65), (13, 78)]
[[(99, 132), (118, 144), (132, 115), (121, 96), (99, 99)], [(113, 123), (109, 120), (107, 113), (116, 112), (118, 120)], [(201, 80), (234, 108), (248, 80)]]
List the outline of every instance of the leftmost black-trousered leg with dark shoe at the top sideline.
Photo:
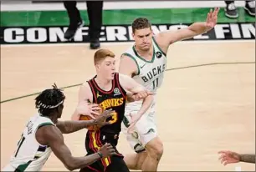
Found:
[(78, 8), (76, 8), (76, 1), (64, 1), (64, 8), (66, 8), (69, 15), (69, 28), (64, 33), (64, 38), (74, 38), (76, 31), (84, 25)]

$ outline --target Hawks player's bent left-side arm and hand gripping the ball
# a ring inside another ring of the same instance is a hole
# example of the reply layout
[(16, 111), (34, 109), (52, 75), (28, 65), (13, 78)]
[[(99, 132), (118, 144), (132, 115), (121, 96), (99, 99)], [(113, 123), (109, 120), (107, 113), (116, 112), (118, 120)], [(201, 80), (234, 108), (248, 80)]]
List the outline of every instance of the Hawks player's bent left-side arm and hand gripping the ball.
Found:
[(95, 119), (94, 115), (100, 115), (96, 110), (100, 110), (98, 104), (90, 104), (92, 102), (93, 95), (88, 83), (84, 83), (79, 89), (79, 103), (72, 114), (72, 120), (79, 120), (81, 114), (89, 115), (92, 119)]

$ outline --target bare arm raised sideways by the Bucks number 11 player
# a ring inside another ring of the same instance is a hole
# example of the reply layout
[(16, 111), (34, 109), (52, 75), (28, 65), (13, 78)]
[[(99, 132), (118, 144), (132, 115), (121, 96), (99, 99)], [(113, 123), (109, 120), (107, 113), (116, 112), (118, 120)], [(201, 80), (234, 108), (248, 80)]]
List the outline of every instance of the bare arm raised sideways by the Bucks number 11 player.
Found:
[(211, 11), (207, 13), (206, 22), (192, 23), (192, 25), (190, 25), (189, 27), (181, 28), (177, 31), (168, 30), (165, 32), (161, 32), (156, 35), (156, 41), (161, 42), (160, 44), (164, 44), (168, 47), (170, 44), (176, 43), (177, 41), (193, 38), (199, 34), (206, 33), (214, 28), (214, 26), (216, 25), (218, 21), (218, 11), (219, 8), (215, 8), (213, 12), (211, 9)]

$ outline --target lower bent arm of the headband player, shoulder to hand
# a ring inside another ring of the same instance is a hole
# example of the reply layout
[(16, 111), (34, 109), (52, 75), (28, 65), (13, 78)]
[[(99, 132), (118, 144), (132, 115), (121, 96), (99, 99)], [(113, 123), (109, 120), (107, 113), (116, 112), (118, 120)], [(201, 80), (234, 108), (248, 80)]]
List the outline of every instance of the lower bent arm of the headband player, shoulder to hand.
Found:
[(49, 145), (57, 158), (69, 170), (81, 169), (95, 161), (115, 154), (115, 150), (110, 144), (104, 145), (99, 153), (90, 154), (83, 157), (72, 156), (69, 148), (64, 144), (64, 137), (59, 129), (53, 125), (43, 126), (38, 129), (36, 138), (39, 144)]

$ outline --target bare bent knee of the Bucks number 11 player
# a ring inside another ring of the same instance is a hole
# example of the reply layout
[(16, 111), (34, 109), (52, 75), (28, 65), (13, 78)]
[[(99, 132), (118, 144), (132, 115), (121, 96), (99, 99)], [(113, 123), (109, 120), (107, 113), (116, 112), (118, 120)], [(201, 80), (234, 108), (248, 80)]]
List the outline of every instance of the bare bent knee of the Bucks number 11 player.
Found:
[(160, 160), (163, 154), (163, 144), (160, 139), (151, 140), (151, 144), (146, 145), (146, 151), (153, 159)]

